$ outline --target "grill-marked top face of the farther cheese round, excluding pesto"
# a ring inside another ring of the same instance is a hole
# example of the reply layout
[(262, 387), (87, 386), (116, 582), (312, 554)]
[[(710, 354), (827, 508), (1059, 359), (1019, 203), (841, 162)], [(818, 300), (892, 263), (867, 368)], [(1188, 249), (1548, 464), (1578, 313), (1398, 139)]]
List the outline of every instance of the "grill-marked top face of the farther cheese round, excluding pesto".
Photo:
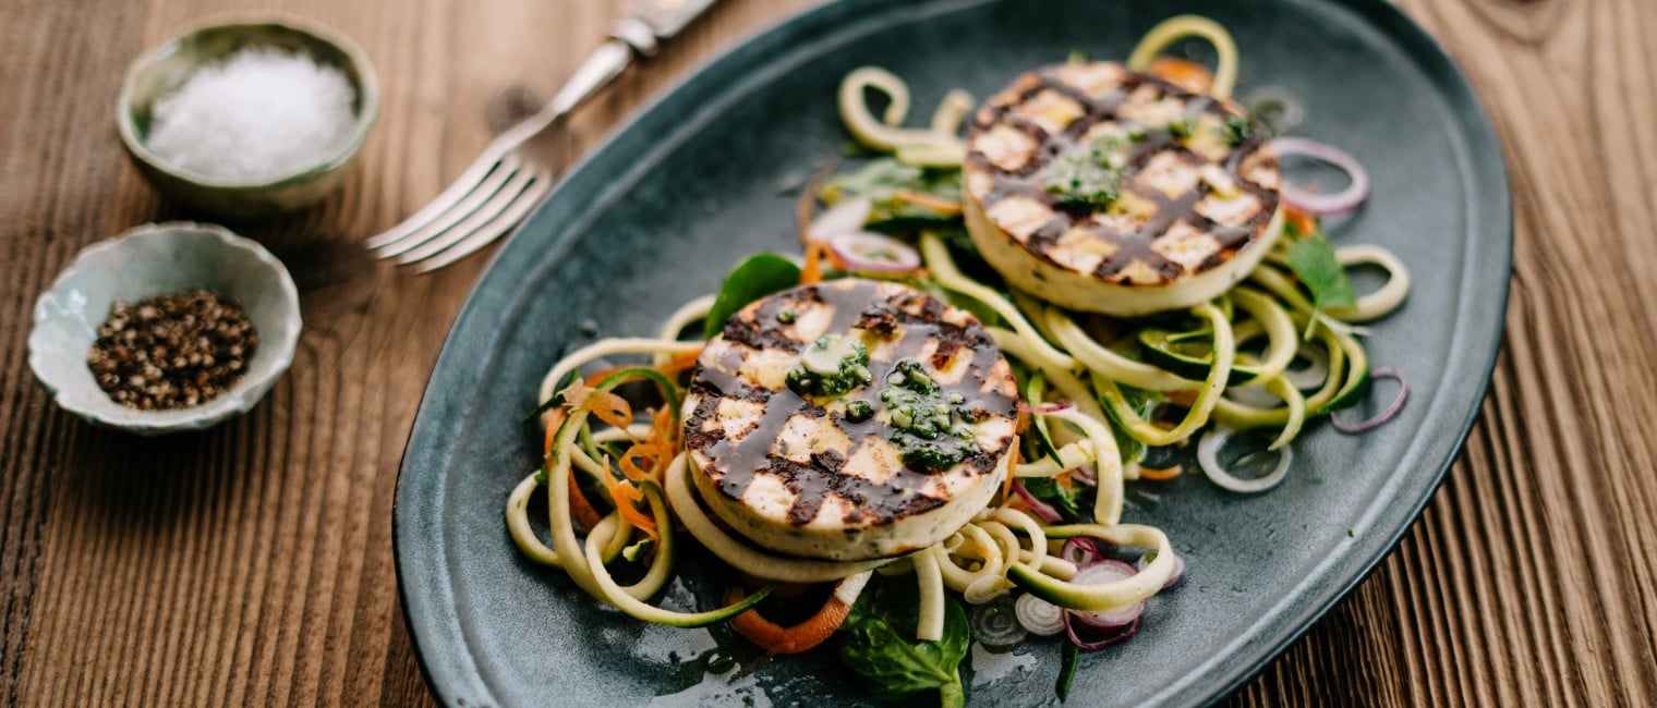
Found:
[[(1065, 271), (1170, 285), (1234, 258), (1263, 237), (1278, 208), (1278, 157), (1258, 134), (1231, 146), (1221, 129), (1234, 116), (1229, 101), (1117, 63), (1046, 66), (976, 112), (966, 144), (968, 199), (1031, 255)], [(1165, 129), (1173, 119), (1195, 126), (1185, 144)], [(1104, 136), (1127, 144), (1132, 131), (1145, 131), (1145, 139), (1128, 151), (1115, 208), (1060, 205), (1042, 189), (1056, 157)], [(1216, 194), (1215, 180), (1238, 194)]]

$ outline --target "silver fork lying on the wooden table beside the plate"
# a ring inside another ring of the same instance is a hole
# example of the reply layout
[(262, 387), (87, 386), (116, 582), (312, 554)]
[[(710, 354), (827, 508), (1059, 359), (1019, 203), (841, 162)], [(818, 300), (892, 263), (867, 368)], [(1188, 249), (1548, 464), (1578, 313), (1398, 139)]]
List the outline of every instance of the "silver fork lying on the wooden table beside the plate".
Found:
[(379, 258), (428, 273), (466, 258), (512, 230), (552, 190), (553, 126), (661, 41), (719, 0), (640, 0), (562, 89), (524, 122), (495, 137), (454, 184), (413, 217), (368, 240)]

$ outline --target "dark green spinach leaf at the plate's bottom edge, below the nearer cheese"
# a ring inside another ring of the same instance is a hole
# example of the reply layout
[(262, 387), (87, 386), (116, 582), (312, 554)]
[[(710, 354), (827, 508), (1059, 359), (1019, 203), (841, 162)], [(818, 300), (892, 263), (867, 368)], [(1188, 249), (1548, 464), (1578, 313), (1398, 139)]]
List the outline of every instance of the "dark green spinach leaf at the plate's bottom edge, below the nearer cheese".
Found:
[(971, 630), (966, 612), (944, 597), (943, 640), (915, 640), (920, 594), (913, 582), (890, 582), (865, 591), (852, 607), (840, 642), (845, 663), (882, 700), (895, 701), (936, 688), (946, 706), (963, 703), (959, 665)]

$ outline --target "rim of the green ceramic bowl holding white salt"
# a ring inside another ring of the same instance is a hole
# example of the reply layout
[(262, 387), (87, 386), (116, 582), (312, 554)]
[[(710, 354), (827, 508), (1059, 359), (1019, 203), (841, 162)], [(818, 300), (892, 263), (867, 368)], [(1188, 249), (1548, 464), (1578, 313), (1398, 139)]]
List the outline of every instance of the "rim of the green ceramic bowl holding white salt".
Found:
[[(292, 31), (295, 35), (305, 35), (323, 45), (331, 45), (340, 50), (355, 69), (353, 84), (358, 91), (358, 101), (361, 108), (356, 111), (356, 126), (351, 129), (351, 137), (340, 146), (326, 160), (290, 172), (275, 179), (262, 182), (239, 182), (227, 180), (212, 175), (205, 175), (196, 170), (187, 170), (184, 167), (172, 165), (171, 162), (161, 159), (161, 155), (149, 151), (144, 141), (138, 137), (138, 121), (133, 116), (133, 84), (138, 81), (138, 73), (149, 68), (156, 61), (171, 56), (177, 48), (196, 35), (204, 31), (219, 31), (227, 28), (252, 28), (252, 26), (275, 26), (283, 31)], [(143, 160), (146, 165), (161, 170), (167, 175), (191, 182), (199, 187), (215, 189), (222, 192), (262, 192), (275, 187), (288, 187), (302, 182), (308, 182), (328, 172), (343, 167), (363, 142), (368, 141), (368, 132), (374, 127), (374, 121), (379, 117), (379, 83), (374, 78), (374, 65), (368, 61), (368, 53), (356, 45), (350, 36), (345, 36), (328, 26), (313, 23), (310, 20), (302, 20), (287, 13), (260, 12), (260, 13), (229, 13), (229, 15), (212, 15), (187, 30), (167, 38), (156, 48), (139, 55), (126, 69), (126, 78), (121, 79), (121, 98), (116, 101), (114, 122), (121, 132), (121, 142), (126, 144), (128, 152)]]

